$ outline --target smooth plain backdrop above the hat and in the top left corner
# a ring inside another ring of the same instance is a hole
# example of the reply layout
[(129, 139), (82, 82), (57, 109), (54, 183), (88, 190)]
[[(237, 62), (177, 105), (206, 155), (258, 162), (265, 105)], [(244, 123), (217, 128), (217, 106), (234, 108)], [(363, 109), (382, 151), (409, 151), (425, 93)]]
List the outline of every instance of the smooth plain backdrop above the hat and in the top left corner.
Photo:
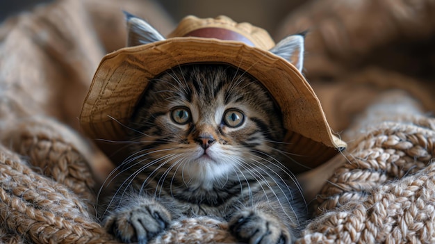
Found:
[[(20, 0), (0, 1), (0, 22), (9, 15), (21, 11), (31, 10), (40, 3), (53, 0)], [(151, 1), (151, 0), (140, 0)], [(277, 25), (290, 13), (290, 10), (304, 3), (303, 0), (154, 0), (170, 14), (174, 22), (186, 15), (197, 17), (216, 17), (227, 15), (236, 22), (249, 22), (266, 29), (271, 34), (277, 29)]]

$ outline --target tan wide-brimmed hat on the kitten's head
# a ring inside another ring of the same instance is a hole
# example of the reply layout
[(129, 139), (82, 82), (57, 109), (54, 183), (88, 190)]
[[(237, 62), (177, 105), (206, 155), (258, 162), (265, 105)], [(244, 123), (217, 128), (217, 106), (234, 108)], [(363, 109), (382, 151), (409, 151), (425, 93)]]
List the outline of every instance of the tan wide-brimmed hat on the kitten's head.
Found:
[(263, 29), (228, 17), (188, 16), (167, 39), (151, 34), (156, 41), (125, 47), (101, 60), (81, 111), (83, 131), (115, 163), (125, 156), (113, 154), (123, 144), (104, 141), (126, 139), (123, 124), (129, 123), (150, 79), (188, 63), (227, 63), (263, 83), (281, 108), (287, 151), (295, 155), (286, 164), (293, 172), (315, 168), (346, 147), (332, 133), (320, 101), (297, 67), (269, 51), (275, 44)]

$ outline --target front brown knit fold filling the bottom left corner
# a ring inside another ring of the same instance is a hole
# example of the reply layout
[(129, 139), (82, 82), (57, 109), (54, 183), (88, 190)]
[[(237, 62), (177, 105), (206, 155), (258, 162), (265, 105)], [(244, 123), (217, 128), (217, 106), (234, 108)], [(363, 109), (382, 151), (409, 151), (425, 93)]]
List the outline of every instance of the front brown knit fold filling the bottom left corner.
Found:
[(0, 174), (0, 223), (7, 232), (1, 240), (5, 243), (113, 243), (85, 211), (81, 197), (34, 172), (3, 146)]

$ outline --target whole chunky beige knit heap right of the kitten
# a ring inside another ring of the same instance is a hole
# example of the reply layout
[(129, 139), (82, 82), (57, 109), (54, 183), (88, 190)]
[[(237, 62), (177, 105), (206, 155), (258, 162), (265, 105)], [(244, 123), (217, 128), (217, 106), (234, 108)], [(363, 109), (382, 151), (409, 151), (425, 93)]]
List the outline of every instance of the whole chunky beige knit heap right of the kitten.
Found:
[(357, 128), (348, 161), (318, 195), (318, 218), (297, 243), (435, 242), (435, 120), (400, 117), (417, 110), (400, 107), (369, 109), (382, 108), (391, 122), (373, 116)]

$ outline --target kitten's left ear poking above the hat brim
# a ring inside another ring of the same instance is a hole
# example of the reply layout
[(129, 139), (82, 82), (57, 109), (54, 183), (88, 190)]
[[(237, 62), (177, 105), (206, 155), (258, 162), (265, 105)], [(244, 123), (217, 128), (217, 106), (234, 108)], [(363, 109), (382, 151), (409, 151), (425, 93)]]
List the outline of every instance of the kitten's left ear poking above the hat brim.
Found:
[(145, 20), (126, 11), (124, 15), (127, 22), (127, 47), (165, 40), (163, 35)]

